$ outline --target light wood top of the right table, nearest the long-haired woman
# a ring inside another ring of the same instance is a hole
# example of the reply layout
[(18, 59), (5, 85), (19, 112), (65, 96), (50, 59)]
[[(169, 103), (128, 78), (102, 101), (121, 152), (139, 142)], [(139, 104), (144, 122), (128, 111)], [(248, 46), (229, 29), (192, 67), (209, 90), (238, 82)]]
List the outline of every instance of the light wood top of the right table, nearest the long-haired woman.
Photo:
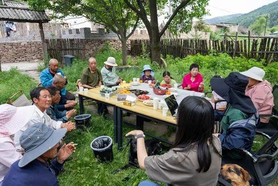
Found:
[(162, 120), (168, 123), (176, 124), (176, 118), (171, 116), (170, 111), (168, 110), (167, 116), (162, 116), (162, 109), (153, 109), (153, 106), (147, 106), (143, 104), (142, 101), (136, 102), (134, 106), (126, 106), (123, 103), (117, 103), (117, 107), (133, 111), (134, 113), (146, 115), (158, 120)]

